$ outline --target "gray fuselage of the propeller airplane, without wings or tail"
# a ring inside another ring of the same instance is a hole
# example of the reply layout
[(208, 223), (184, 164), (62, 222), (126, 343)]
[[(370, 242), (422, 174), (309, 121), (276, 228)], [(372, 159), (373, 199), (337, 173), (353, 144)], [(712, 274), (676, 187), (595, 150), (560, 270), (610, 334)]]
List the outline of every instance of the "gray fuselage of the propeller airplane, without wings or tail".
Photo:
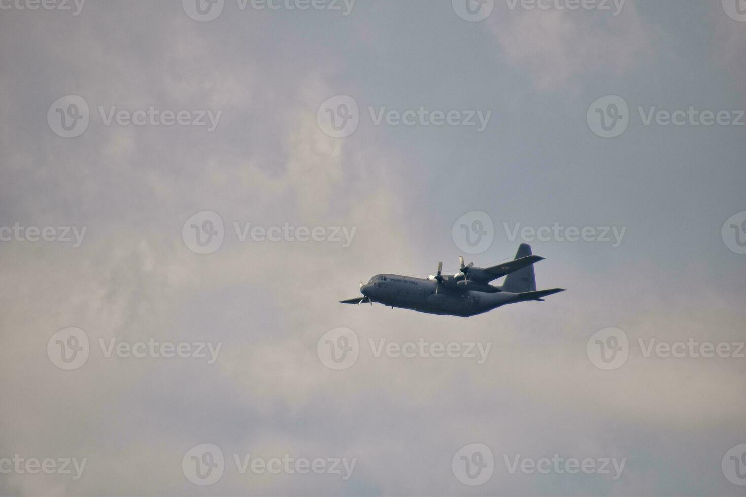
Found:
[(500, 291), (488, 294), (457, 285), (438, 285), (430, 279), (398, 274), (379, 274), (360, 287), (360, 293), (384, 306), (442, 316), (470, 317), (521, 301), (519, 294)]

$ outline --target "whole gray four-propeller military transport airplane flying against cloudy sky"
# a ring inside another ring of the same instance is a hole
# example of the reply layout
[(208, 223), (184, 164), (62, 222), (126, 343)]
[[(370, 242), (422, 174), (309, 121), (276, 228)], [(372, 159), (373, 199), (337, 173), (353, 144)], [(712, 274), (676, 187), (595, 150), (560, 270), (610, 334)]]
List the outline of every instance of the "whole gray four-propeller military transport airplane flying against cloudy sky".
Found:
[[(530, 245), (521, 244), (515, 259), (490, 268), (475, 268), (474, 262), (464, 265), (454, 276), (438, 273), (427, 279), (377, 274), (368, 283), (360, 283), (363, 297), (340, 300), (342, 304), (380, 303), (391, 308), (404, 308), (425, 314), (471, 317), (492, 309), (518, 302), (544, 302), (544, 297), (565, 291), (564, 288), (536, 290), (533, 265), (544, 260), (534, 256)], [(495, 279), (507, 276), (501, 286), (490, 285)]]

